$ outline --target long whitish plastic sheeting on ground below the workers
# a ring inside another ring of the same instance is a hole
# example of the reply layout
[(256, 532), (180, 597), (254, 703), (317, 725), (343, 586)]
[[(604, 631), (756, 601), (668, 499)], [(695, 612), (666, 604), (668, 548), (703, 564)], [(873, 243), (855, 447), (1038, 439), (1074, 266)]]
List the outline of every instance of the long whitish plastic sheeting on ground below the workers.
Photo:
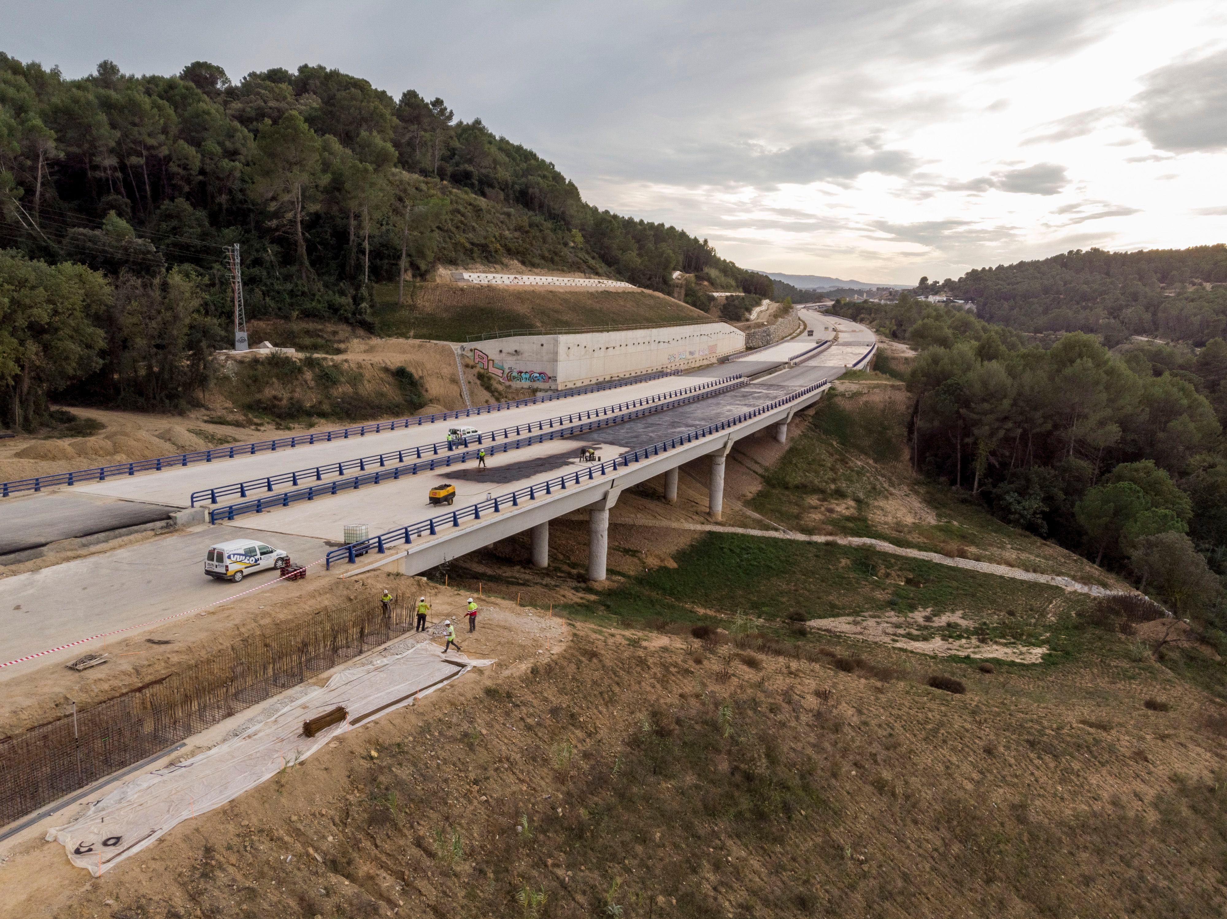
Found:
[[(49, 829), (69, 859), (94, 877), (152, 844), (177, 823), (238, 798), (342, 734), (413, 702), (488, 660), (443, 658), (434, 645), (356, 666), (328, 685), (290, 703), (266, 721), (212, 750), (121, 785), (67, 826)], [(341, 706), (344, 721), (314, 737), (303, 721)]]

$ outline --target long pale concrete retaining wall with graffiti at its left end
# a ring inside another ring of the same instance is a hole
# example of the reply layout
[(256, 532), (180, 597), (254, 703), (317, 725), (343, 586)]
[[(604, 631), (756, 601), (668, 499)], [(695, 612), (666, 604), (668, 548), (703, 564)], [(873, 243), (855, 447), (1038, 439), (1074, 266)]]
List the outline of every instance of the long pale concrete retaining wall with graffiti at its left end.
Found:
[(465, 346), (465, 355), (515, 386), (569, 389), (636, 373), (701, 367), (745, 346), (745, 333), (726, 323), (708, 323), (492, 339)]

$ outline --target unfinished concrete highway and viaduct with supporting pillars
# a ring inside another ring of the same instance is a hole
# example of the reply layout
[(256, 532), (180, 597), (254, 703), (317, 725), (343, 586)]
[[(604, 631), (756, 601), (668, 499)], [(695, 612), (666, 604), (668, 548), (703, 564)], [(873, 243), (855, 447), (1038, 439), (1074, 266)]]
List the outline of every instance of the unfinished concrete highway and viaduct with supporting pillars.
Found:
[[(534, 563), (544, 566), (548, 520), (587, 508), (589, 578), (602, 580), (609, 508), (622, 490), (664, 476), (666, 494), (676, 494), (677, 467), (710, 455), (710, 512), (718, 519), (724, 456), (733, 443), (767, 428), (782, 434), (780, 426), (817, 401), (826, 384), (848, 368), (867, 366), (875, 348), (869, 329), (812, 310), (800, 315), (812, 336), (802, 330), (795, 339), (681, 375), (534, 401), (467, 421), (411, 425), (5, 498), (4, 545), (25, 545), (21, 534), (32, 526), (53, 537), (77, 536), (168, 513), (178, 513), (180, 525), (139, 545), (0, 580), (0, 681), (91, 650), (88, 642), (64, 647), (70, 643), (217, 605), (276, 580), (272, 571), (242, 584), (205, 575), (209, 546), (236, 539), (285, 550), (294, 562), (310, 564), (312, 577), (345, 577), (377, 566), (412, 574), (531, 530)], [(459, 423), (476, 427), (481, 443), (470, 438), (447, 449), (447, 429)], [(595, 452), (596, 463), (582, 460), (585, 448)], [(479, 449), (490, 454), (483, 467)], [(375, 472), (378, 482), (372, 481)], [(550, 481), (563, 487), (546, 490)], [(455, 486), (454, 506), (429, 506), (427, 493), (444, 483)], [(304, 488), (315, 491), (306, 494)], [(525, 499), (529, 490), (531, 499)], [(490, 503), (520, 492), (524, 497)], [(255, 499), (261, 501), (258, 510)], [(444, 513), (454, 513), (447, 526), (429, 526), (432, 517)], [(210, 517), (217, 523), (209, 523)], [(352, 562), (342, 544), (350, 524), (364, 524), (373, 537)], [(388, 537), (378, 540), (380, 534)]]

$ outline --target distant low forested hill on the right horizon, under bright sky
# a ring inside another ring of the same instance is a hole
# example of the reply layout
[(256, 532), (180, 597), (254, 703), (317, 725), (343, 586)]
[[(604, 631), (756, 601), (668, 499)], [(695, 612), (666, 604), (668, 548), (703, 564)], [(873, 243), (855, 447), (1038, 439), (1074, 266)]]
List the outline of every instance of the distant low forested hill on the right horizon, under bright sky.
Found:
[(1110, 253), (1075, 250), (920, 279), (917, 294), (948, 293), (977, 314), (1028, 333), (1099, 334), (1109, 347), (1131, 335), (1198, 347), (1227, 329), (1227, 245)]

